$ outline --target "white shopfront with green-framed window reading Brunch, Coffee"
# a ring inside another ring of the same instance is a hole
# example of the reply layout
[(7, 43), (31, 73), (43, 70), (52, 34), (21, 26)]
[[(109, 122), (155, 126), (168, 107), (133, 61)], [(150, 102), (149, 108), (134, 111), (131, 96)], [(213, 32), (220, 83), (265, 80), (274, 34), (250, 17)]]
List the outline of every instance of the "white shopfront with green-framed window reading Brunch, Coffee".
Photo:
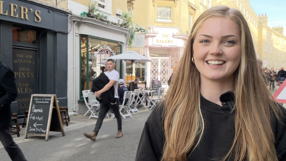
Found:
[[(71, 16), (73, 29), (68, 41), (68, 107), (86, 113), (83, 90), (90, 90), (93, 79), (106, 69), (106, 58), (126, 52), (129, 29), (93, 18)], [(126, 63), (116, 60), (115, 70), (125, 79)], [(73, 114), (73, 113), (71, 113)]]

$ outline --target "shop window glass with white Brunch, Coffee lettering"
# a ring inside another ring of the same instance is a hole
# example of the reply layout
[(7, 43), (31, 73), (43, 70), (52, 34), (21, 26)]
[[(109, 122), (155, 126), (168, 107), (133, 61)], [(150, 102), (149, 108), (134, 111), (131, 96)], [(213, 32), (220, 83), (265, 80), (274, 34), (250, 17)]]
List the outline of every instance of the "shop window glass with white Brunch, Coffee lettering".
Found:
[[(107, 71), (106, 58), (120, 54), (120, 50), (119, 43), (81, 37), (81, 91), (91, 89), (92, 81), (101, 74), (101, 70)], [(115, 70), (120, 72), (120, 60), (116, 60)]]

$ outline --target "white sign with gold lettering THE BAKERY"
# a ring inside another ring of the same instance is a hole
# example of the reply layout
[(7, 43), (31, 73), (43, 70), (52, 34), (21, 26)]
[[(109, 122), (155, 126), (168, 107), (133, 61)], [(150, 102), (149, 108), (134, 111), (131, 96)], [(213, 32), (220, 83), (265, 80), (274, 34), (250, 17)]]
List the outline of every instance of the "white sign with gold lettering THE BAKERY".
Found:
[(173, 38), (173, 34), (170, 33), (158, 33), (153, 38), (153, 45), (177, 46), (177, 39)]

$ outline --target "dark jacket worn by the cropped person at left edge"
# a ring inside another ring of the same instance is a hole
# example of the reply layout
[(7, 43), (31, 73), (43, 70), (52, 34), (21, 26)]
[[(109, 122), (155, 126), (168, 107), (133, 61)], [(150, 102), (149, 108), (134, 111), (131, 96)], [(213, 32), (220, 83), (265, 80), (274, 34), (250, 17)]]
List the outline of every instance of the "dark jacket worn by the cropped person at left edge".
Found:
[(13, 71), (0, 60), (0, 129), (11, 126), (11, 102), (17, 98), (18, 91)]

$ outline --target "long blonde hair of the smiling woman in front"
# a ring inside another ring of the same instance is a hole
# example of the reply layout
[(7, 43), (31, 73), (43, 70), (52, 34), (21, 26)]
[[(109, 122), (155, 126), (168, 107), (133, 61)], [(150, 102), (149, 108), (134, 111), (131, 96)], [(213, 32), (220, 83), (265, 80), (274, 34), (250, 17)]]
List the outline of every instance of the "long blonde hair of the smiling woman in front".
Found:
[[(230, 18), (241, 32), (241, 63), (234, 76), (236, 101), (235, 136), (230, 151), (235, 161), (278, 161), (275, 138), (270, 124), (274, 113), (279, 116), (278, 104), (258, 72), (251, 32), (236, 9), (216, 6), (208, 9), (196, 20), (189, 36), (178, 71), (171, 80), (170, 89), (163, 100), (164, 145), (162, 161), (186, 161), (202, 139), (204, 120), (200, 109), (200, 73), (192, 62), (193, 41), (201, 24), (212, 17)], [(223, 140), (222, 140), (223, 141)]]

